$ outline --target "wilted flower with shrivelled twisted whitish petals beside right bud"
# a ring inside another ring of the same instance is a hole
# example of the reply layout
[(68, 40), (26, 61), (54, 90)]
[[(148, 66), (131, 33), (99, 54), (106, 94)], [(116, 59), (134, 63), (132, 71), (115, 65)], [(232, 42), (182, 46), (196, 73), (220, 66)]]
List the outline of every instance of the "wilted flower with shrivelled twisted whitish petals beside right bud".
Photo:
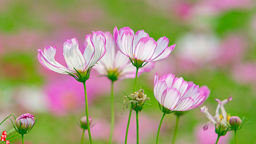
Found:
[[(227, 115), (227, 112), (225, 111), (224, 105), (227, 104), (227, 102), (229, 102), (230, 100), (232, 100), (232, 97), (225, 99), (223, 101), (215, 99), (219, 104), (216, 108), (215, 111), (215, 116), (212, 116), (209, 111), (208, 108), (206, 106), (201, 107), (201, 112), (206, 114), (206, 117), (209, 118), (209, 122), (203, 127), (204, 130), (206, 130), (208, 128), (208, 125), (210, 124), (216, 124), (217, 126), (221, 126), (224, 129), (227, 129), (228, 127), (228, 121), (230, 116)], [(219, 111), (221, 111), (221, 114), (219, 113)], [(217, 133), (217, 132), (216, 132)]]

